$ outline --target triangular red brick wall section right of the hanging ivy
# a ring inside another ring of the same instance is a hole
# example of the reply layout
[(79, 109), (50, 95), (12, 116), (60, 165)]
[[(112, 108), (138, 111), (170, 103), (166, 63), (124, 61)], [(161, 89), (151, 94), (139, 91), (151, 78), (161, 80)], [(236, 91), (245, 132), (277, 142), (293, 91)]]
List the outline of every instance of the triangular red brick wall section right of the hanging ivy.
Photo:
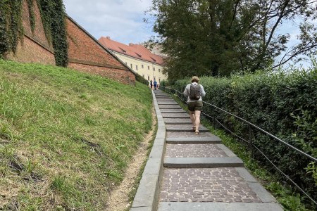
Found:
[(90, 72), (125, 84), (135, 84), (135, 75), (117, 58), (108, 53), (70, 18), (66, 20), (68, 34), (68, 68)]

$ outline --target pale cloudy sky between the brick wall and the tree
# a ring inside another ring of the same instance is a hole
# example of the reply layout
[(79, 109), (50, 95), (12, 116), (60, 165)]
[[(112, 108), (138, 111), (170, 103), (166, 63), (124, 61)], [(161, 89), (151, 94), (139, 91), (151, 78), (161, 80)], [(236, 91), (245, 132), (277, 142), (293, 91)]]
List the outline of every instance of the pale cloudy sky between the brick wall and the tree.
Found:
[(63, 0), (66, 13), (94, 38), (109, 36), (123, 44), (147, 41), (152, 27), (143, 23), (151, 0)]

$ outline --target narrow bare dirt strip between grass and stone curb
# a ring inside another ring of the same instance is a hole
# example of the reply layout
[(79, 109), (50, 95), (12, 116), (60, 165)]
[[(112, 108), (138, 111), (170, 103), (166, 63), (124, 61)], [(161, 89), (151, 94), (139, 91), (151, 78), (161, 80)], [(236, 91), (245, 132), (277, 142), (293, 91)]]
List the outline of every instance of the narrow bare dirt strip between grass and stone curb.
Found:
[(144, 160), (147, 159), (147, 147), (149, 146), (155, 131), (156, 113), (154, 109), (152, 109), (152, 119), (153, 123), (151, 131), (144, 137), (139, 149), (132, 158), (132, 162), (128, 165), (128, 169), (125, 172), (125, 178), (120, 186), (111, 191), (107, 206), (107, 210), (109, 211), (122, 211), (127, 210), (127, 208), (130, 207), (129, 193), (132, 191), (135, 179), (139, 174), (139, 170), (142, 167)]

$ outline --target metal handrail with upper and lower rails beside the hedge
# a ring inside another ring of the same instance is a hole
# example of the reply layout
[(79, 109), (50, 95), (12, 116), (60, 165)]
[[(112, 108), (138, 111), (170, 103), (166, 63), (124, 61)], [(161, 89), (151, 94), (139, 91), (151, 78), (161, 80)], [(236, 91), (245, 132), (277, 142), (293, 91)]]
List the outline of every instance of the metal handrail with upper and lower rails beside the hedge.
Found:
[[(161, 87), (163, 87), (163, 86), (161, 86)], [(178, 90), (176, 90), (176, 89), (173, 89), (173, 88), (170, 88), (170, 87), (163, 87), (163, 89), (171, 89), (171, 90), (177, 91), (177, 92), (180, 93), (181, 95), (184, 95), (184, 94), (182, 94), (180, 91), (178, 91)], [(178, 96), (178, 98), (180, 98), (180, 97)], [(180, 98), (180, 99), (181, 99), (181, 98)], [(182, 100), (182, 101), (185, 101), (185, 99), (184, 99), (184, 100), (181, 99), (181, 100)], [(203, 102), (206, 103), (206, 104), (209, 105), (209, 106), (213, 106), (214, 108), (217, 108), (217, 109), (219, 109), (219, 110), (222, 110), (223, 112), (228, 113), (229, 115), (232, 115), (232, 116), (234, 116), (234, 117), (237, 117), (238, 119), (242, 120), (243, 122), (246, 122), (247, 124), (251, 125), (252, 127), (256, 128), (256, 129), (259, 129), (261, 132), (263, 132), (263, 133), (265, 133), (265, 134), (268, 134), (268, 135), (271, 136), (273, 139), (276, 139), (276, 140), (278, 140), (278, 141), (280, 141), (280, 142), (282, 142), (282, 143), (285, 143), (287, 146), (293, 148), (294, 150), (298, 151), (299, 153), (302, 153), (303, 155), (306, 155), (308, 158), (311, 158), (312, 160), (317, 160), (316, 158), (313, 158), (311, 155), (308, 155), (308, 154), (304, 153), (303, 151), (301, 151), (301, 150), (295, 148), (294, 146), (290, 145), (289, 143), (286, 143), (285, 141), (282, 141), (281, 139), (279, 139), (278, 137), (274, 136), (273, 134), (270, 134), (270, 133), (266, 132), (264, 129), (261, 129), (261, 127), (257, 127), (255, 124), (252, 124), (251, 122), (249, 122), (249, 121), (247, 121), (247, 120), (244, 120), (242, 117), (239, 117), (239, 116), (237, 116), (237, 115), (234, 115), (234, 114), (232, 114), (232, 113), (229, 113), (228, 111), (223, 110), (222, 108), (218, 108), (217, 106), (214, 106), (214, 105), (211, 104), (211, 103), (207, 103), (207, 102), (205, 102), (205, 101), (203, 101)], [(185, 101), (185, 103), (186, 103), (186, 101)], [(211, 116), (207, 115), (206, 113), (203, 113), (203, 114), (206, 115), (207, 117), (211, 117)], [(259, 151), (259, 153), (261, 153), (261, 154), (264, 156), (264, 158), (266, 158), (266, 160), (268, 160), (268, 162), (270, 162), (270, 163), (273, 165), (273, 167), (275, 167), (275, 169), (278, 170), (278, 172), (280, 172), (282, 175), (284, 175), (289, 181), (292, 182), (292, 184), (294, 184), (294, 186), (296, 186), (297, 188), (299, 188), (299, 191), (302, 191), (302, 193), (304, 193), (313, 203), (315, 203), (315, 204), (317, 205), (317, 202), (316, 202), (315, 200), (313, 200), (313, 198), (311, 198), (311, 196), (309, 196), (308, 193), (306, 193), (306, 192), (305, 192), (296, 182), (294, 182), (287, 174), (285, 174), (284, 172), (282, 172), (282, 170), (280, 170), (280, 168), (278, 168), (278, 167), (272, 162), (272, 160), (270, 160), (270, 158), (268, 158), (268, 156), (266, 156), (257, 146), (255, 146), (254, 143), (252, 143), (251, 141), (247, 141), (247, 140), (243, 139), (242, 137), (238, 136), (237, 134), (235, 134), (234, 132), (232, 132), (230, 129), (228, 129), (227, 127), (225, 127), (225, 125), (221, 124), (215, 117), (212, 117), (212, 118), (213, 118), (213, 120), (216, 120), (216, 121), (218, 122), (218, 124), (220, 124), (222, 127), (224, 127), (225, 129), (227, 129), (231, 134), (233, 134), (234, 136), (237, 136), (239, 139), (242, 139), (242, 141), (245, 141), (245, 142), (251, 144), (252, 147), (256, 148), (256, 150)]]

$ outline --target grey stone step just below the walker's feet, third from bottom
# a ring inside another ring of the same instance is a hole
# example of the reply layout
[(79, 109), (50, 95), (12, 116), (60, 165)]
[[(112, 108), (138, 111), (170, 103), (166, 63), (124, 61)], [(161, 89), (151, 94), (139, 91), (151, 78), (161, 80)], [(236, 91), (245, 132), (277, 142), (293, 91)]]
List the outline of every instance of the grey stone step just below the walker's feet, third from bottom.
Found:
[(179, 138), (166, 138), (166, 143), (221, 143), (218, 136), (211, 135), (209, 137), (179, 137)]

